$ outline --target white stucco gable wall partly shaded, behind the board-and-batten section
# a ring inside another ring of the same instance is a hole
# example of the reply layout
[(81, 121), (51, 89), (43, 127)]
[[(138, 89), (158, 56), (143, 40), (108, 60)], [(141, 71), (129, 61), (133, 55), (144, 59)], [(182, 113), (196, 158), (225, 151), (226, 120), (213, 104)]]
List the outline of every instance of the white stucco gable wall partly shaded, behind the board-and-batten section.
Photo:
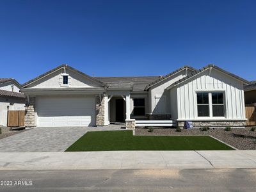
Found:
[[(191, 74), (191, 70), (188, 69), (187, 74)], [(166, 91), (166, 88), (170, 86), (175, 81), (186, 77), (186, 69), (177, 72), (177, 74), (173, 74), (162, 82), (157, 83), (149, 89), (149, 113), (150, 114), (170, 114), (171, 113), (171, 105), (170, 102), (170, 92)]]

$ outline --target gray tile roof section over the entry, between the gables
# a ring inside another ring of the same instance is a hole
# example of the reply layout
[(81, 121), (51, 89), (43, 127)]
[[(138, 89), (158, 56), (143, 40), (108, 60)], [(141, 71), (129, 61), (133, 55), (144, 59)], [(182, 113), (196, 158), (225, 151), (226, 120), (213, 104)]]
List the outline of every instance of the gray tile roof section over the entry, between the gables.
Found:
[(159, 76), (141, 76), (141, 77), (94, 77), (95, 79), (108, 84), (109, 88), (131, 88), (133, 83), (134, 91), (143, 91), (145, 87), (156, 81)]

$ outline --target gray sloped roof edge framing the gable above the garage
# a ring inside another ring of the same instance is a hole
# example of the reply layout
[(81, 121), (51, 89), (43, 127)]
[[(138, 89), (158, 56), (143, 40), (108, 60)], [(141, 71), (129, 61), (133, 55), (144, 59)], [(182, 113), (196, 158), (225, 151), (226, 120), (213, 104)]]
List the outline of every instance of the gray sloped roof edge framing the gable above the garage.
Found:
[(82, 76), (85, 76), (85, 77), (87, 77), (88, 79), (92, 79), (93, 81), (99, 83), (99, 84), (102, 85), (102, 86), (107, 86), (107, 84), (104, 84), (104, 83), (98, 81), (97, 79), (94, 79), (93, 77), (84, 74), (83, 72), (77, 70), (76, 68), (70, 67), (70, 66), (68, 66), (67, 64), (63, 64), (63, 65), (60, 65), (60, 66), (58, 66), (58, 67), (56, 67), (56, 68), (53, 68), (52, 70), (49, 70), (48, 72), (45, 72), (44, 74), (42, 74), (42, 75), (40, 75), (40, 76), (38, 76), (38, 77), (35, 77), (34, 79), (31, 79), (30, 81), (28, 81), (28, 82), (22, 84), (22, 88), (24, 88), (24, 87), (27, 86), (28, 84), (33, 83), (34, 81), (36, 81), (36, 80), (38, 80), (38, 79), (40, 79), (40, 78), (42, 78), (42, 77), (44, 77), (44, 76), (47, 76), (48, 74), (51, 74), (52, 72), (54, 72), (54, 71), (56, 71), (56, 70), (59, 70), (60, 68), (63, 68), (63, 67), (69, 68), (70, 70), (73, 70), (74, 72), (77, 72), (78, 74), (81, 74)]

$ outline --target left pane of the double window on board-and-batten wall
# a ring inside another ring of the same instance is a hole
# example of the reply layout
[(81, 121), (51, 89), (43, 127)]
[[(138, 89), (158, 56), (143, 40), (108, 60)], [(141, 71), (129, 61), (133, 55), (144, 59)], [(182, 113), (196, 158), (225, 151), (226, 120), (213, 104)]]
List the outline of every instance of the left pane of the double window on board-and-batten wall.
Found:
[(197, 93), (198, 116), (210, 116), (208, 93)]

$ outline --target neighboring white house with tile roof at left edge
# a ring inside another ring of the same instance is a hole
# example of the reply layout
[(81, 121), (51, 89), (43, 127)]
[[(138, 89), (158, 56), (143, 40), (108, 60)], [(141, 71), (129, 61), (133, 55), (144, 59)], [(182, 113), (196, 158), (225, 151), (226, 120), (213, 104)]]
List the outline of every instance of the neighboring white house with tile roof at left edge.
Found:
[(7, 126), (8, 110), (25, 110), (25, 95), (21, 86), (11, 78), (0, 78), (0, 125)]

